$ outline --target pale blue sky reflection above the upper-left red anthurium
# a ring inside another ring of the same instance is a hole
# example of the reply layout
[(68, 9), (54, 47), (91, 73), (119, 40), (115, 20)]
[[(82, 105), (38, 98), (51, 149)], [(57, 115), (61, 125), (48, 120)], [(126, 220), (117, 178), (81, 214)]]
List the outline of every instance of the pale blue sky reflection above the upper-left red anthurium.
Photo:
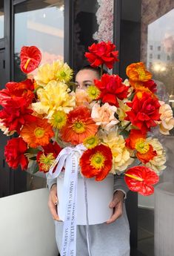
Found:
[(56, 7), (15, 14), (15, 52), (23, 45), (36, 45), (49, 53), (63, 55), (64, 12)]

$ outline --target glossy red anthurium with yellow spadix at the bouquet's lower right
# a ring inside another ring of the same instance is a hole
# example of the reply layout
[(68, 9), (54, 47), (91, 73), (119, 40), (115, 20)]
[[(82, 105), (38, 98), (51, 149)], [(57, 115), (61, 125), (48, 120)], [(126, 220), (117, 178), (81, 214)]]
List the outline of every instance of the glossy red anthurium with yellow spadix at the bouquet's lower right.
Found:
[(146, 166), (135, 166), (127, 170), (124, 180), (130, 190), (149, 196), (153, 194), (152, 185), (158, 183), (159, 177), (155, 171)]

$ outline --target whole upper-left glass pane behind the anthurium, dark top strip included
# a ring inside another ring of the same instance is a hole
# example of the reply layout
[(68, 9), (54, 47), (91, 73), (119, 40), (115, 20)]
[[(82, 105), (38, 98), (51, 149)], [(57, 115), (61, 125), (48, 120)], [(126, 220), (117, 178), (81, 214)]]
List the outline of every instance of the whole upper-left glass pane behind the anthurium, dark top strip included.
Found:
[(19, 70), (23, 45), (36, 45), (41, 63), (64, 59), (64, 1), (27, 1), (15, 7), (15, 80), (24, 78)]

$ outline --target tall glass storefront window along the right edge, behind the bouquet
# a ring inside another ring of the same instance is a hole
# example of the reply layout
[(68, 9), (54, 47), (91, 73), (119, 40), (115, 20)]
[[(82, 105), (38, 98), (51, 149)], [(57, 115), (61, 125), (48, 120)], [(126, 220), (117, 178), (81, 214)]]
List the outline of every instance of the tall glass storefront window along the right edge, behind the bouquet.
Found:
[[(170, 0), (141, 2), (141, 61), (153, 73), (158, 98), (174, 107), (174, 3)], [(167, 167), (161, 171), (155, 194), (150, 197), (138, 195), (138, 251), (144, 256), (161, 255), (166, 249), (172, 249), (173, 244), (170, 239), (174, 230), (170, 217), (172, 206), (167, 195), (174, 198), (170, 188), (170, 183), (174, 183), (174, 131), (163, 136), (154, 130), (153, 135), (166, 150)], [(167, 251), (167, 254), (173, 255), (173, 252)]]

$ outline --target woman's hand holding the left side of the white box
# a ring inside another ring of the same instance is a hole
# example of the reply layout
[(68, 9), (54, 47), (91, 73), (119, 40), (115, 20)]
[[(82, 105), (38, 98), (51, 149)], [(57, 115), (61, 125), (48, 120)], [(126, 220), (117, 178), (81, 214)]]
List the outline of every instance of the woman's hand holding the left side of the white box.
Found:
[(50, 209), (50, 212), (53, 216), (53, 220), (59, 220), (58, 214), (57, 214), (57, 185), (53, 184), (53, 186), (50, 189), (50, 196), (48, 199), (48, 207)]

